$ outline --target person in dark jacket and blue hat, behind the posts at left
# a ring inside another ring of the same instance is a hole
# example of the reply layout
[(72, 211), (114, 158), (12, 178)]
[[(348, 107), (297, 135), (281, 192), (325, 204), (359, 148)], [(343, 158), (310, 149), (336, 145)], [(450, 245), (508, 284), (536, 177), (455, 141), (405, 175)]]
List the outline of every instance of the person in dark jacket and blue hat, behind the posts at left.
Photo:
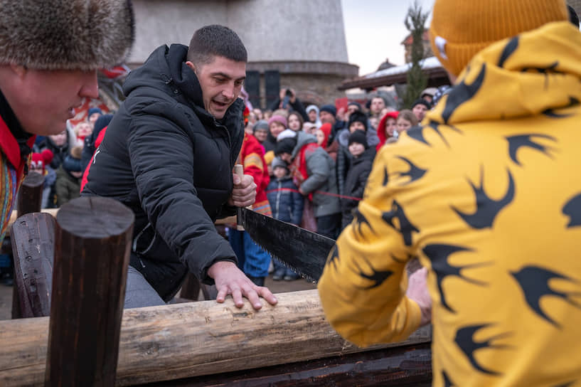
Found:
[(55, 192), (58, 207), (80, 196), (81, 154), (82, 147), (70, 149), (70, 154), (65, 157), (63, 164), (56, 172)]

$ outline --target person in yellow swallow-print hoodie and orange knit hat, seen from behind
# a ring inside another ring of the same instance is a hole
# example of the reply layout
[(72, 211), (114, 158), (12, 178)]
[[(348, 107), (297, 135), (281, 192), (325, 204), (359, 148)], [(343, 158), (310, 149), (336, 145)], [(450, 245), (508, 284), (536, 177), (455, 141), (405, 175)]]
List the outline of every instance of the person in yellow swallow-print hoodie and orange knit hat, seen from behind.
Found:
[(326, 317), (360, 346), (431, 319), (435, 386), (581, 386), (581, 33), (564, 0), (436, 0), (430, 39), (457, 81), (376, 157)]

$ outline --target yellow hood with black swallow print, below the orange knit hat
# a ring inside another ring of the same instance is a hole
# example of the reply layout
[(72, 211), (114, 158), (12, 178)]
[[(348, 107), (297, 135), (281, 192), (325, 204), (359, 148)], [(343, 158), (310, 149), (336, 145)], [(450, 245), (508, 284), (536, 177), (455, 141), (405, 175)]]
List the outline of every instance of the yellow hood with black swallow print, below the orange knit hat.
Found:
[[(581, 33), (547, 23), (477, 53), (422, 124), (506, 120), (581, 101)], [(555, 114), (555, 113), (553, 113)]]

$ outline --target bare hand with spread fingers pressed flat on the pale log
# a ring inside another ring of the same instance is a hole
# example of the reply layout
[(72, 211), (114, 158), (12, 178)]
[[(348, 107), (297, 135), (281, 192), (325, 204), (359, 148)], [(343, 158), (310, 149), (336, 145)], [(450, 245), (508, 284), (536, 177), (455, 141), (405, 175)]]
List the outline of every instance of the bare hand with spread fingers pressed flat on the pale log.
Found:
[(219, 261), (208, 269), (208, 275), (214, 279), (218, 290), (217, 302), (224, 302), (227, 295), (232, 295), (236, 307), (244, 306), (242, 297), (246, 297), (256, 310), (262, 307), (258, 296), (267, 300), (271, 305), (276, 305), (278, 300), (267, 287), (257, 286), (230, 261)]

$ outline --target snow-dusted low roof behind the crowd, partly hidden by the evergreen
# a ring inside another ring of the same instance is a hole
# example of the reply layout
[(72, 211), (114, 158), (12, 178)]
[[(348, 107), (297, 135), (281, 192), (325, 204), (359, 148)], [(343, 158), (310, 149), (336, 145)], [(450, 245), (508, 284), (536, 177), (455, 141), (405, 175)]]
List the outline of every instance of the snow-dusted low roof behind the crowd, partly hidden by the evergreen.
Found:
[[(428, 78), (447, 78), (447, 73), (442, 64), (435, 56), (423, 59), (420, 64), (422, 70)], [(347, 90), (352, 88), (377, 88), (378, 86), (389, 86), (394, 83), (405, 83), (407, 80), (407, 71), (412, 67), (412, 63), (399, 65), (385, 70), (378, 70), (375, 73), (363, 75), (362, 77), (343, 80), (339, 86), (339, 90)]]

